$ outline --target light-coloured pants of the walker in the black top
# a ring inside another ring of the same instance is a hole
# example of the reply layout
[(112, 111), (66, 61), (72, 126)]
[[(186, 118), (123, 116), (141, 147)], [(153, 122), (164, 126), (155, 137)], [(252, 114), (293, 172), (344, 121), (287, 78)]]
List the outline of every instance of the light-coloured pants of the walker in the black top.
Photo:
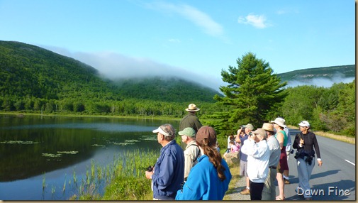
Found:
[(312, 197), (311, 195), (311, 186), (310, 186), (310, 179), (313, 167), (315, 167), (315, 158), (312, 159), (311, 165), (309, 165), (306, 161), (301, 158), (297, 159), (297, 171), (298, 171), (298, 192), (303, 196)]

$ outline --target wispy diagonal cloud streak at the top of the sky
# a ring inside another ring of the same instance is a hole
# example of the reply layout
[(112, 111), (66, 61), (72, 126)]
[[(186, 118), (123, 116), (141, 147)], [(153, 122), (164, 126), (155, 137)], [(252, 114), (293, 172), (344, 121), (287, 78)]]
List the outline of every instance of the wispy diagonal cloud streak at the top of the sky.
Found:
[(219, 23), (216, 23), (211, 16), (208, 16), (208, 14), (193, 6), (186, 4), (169, 4), (165, 2), (156, 2), (146, 5), (150, 9), (156, 9), (167, 13), (177, 13), (200, 27), (203, 32), (208, 35), (219, 37), (224, 33), (223, 27)]

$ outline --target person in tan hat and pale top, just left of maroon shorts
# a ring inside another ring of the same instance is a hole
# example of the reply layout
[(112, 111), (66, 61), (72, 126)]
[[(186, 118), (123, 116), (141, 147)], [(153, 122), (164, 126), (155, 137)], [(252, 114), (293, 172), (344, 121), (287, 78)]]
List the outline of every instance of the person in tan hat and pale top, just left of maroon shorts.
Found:
[(266, 131), (267, 134), (267, 146), (269, 146), (270, 157), (269, 157), (269, 174), (264, 182), (264, 190), (262, 190), (262, 199), (261, 200), (275, 200), (276, 199), (276, 186), (274, 181), (276, 180), (277, 175), (277, 165), (279, 164), (280, 159), (280, 145), (279, 141), (274, 136), (274, 125), (265, 123), (262, 125), (262, 129)]

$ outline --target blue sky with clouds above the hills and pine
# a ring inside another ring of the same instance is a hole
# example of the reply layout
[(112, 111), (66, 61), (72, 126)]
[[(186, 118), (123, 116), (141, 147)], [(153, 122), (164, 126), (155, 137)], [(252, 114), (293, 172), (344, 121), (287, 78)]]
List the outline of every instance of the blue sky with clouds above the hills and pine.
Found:
[(0, 40), (111, 79), (178, 76), (218, 89), (246, 53), (274, 73), (355, 64), (352, 0), (0, 0)]

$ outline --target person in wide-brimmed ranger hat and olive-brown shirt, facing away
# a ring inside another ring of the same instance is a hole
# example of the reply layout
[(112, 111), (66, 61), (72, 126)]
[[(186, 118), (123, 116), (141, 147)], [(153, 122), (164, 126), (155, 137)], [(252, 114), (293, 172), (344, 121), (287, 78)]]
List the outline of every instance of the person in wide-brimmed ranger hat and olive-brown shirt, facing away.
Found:
[(196, 107), (195, 104), (189, 104), (188, 108), (185, 109), (185, 111), (188, 111), (188, 114), (181, 119), (179, 123), (179, 131), (184, 130), (184, 128), (193, 128), (195, 133), (198, 131), (201, 126), (201, 122), (199, 121), (198, 117), (195, 115), (196, 111), (200, 111), (198, 107)]

